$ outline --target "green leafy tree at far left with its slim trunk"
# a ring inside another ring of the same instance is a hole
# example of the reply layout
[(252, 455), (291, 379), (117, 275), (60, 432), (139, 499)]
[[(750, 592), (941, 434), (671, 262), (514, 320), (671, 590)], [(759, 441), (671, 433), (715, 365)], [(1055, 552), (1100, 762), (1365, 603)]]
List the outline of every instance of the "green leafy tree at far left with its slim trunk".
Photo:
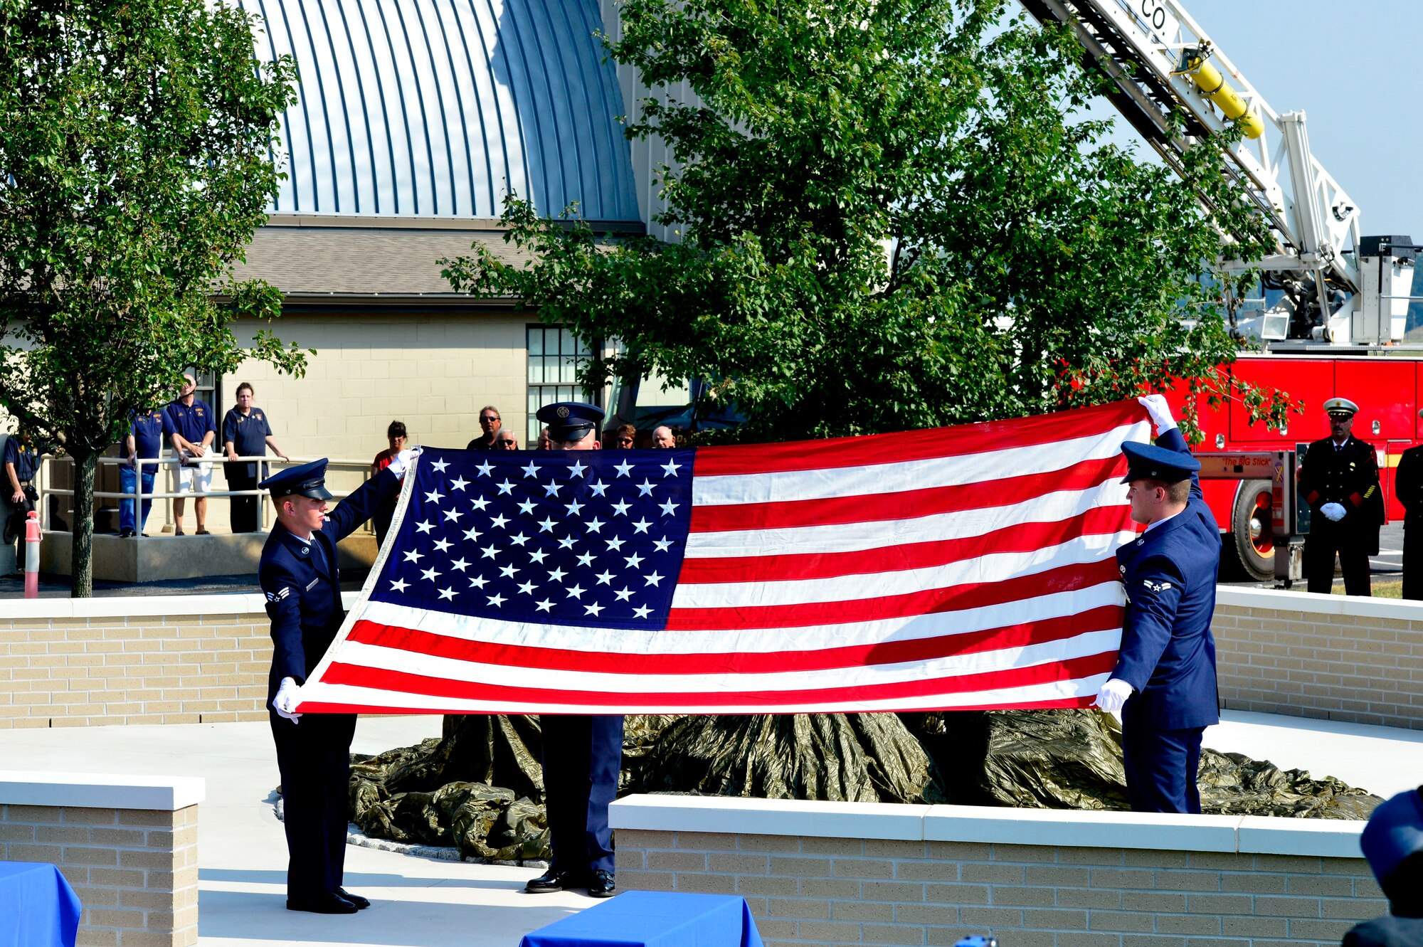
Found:
[(290, 61), (253, 60), (250, 17), (203, 0), (0, 4), (0, 408), (74, 459), (73, 594), (92, 589), (98, 456), (186, 365), (302, 373), (233, 314), (277, 291), (232, 267), (277, 186)]

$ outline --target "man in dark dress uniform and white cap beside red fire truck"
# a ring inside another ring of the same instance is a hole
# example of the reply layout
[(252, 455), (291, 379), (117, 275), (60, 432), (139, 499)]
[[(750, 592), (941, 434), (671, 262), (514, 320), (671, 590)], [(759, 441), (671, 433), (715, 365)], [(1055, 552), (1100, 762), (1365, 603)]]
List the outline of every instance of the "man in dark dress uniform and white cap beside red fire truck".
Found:
[(1359, 405), (1348, 398), (1325, 401), (1329, 437), (1315, 441), (1299, 468), (1299, 495), (1309, 503), (1305, 579), (1309, 592), (1333, 589), (1335, 553), (1350, 596), (1368, 596), (1369, 556), (1379, 547), (1383, 488), (1373, 445), (1355, 438)]

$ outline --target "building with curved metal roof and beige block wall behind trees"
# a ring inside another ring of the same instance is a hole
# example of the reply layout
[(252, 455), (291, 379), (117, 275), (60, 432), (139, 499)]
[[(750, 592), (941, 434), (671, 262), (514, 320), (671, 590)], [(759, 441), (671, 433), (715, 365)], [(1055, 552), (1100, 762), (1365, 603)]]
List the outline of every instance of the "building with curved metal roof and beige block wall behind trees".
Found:
[(652, 154), (635, 175), (620, 124), (635, 87), (605, 61), (599, 1), (239, 6), (262, 18), (258, 55), (290, 54), (302, 80), (282, 119), (287, 181), (240, 274), (282, 290), (277, 336), (317, 354), (305, 378), (248, 364), (211, 380), (218, 414), (250, 381), (293, 456), (370, 458), (391, 419), (462, 446), (485, 404), (536, 437), (532, 410), (581, 397), (588, 353), (514, 300), (451, 293), (437, 260), (472, 245), (511, 259), (509, 192), (645, 230)]

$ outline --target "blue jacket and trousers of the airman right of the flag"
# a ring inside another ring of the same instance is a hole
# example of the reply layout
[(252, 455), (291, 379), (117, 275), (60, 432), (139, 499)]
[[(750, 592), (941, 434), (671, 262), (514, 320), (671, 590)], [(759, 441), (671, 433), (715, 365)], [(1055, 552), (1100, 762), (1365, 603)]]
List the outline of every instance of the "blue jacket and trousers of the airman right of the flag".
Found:
[[(1190, 454), (1177, 429), (1157, 446)], [(1200, 812), (1201, 729), (1220, 722), (1211, 637), (1220, 559), (1220, 526), (1195, 474), (1184, 510), (1117, 550), (1127, 607), (1111, 677), (1133, 688), (1121, 708), (1133, 809)]]

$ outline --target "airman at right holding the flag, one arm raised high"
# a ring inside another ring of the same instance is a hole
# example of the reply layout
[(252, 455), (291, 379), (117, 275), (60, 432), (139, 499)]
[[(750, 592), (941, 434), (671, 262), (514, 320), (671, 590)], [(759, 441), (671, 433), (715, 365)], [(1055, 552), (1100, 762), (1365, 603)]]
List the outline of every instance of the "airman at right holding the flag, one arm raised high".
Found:
[(1185, 438), (1161, 395), (1140, 400), (1157, 444), (1121, 445), (1131, 519), (1146, 532), (1117, 550), (1127, 594), (1121, 650), (1097, 707), (1121, 712), (1127, 796), (1136, 812), (1201, 810), (1201, 732), (1220, 722), (1215, 579), (1221, 533), (1201, 498)]

